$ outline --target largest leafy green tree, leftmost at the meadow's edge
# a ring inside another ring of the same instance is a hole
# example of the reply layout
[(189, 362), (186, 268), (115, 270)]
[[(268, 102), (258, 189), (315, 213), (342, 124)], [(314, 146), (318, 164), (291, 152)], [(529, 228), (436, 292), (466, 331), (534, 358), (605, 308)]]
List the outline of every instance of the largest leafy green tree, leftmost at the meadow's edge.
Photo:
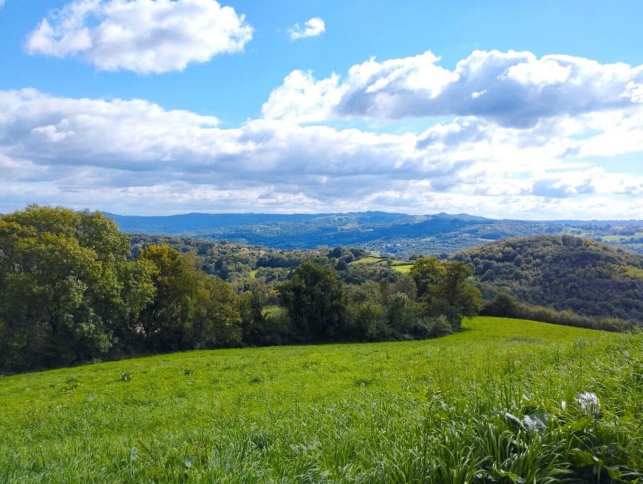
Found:
[(101, 213), (28, 206), (0, 219), (0, 365), (83, 361), (118, 341), (154, 290)]

